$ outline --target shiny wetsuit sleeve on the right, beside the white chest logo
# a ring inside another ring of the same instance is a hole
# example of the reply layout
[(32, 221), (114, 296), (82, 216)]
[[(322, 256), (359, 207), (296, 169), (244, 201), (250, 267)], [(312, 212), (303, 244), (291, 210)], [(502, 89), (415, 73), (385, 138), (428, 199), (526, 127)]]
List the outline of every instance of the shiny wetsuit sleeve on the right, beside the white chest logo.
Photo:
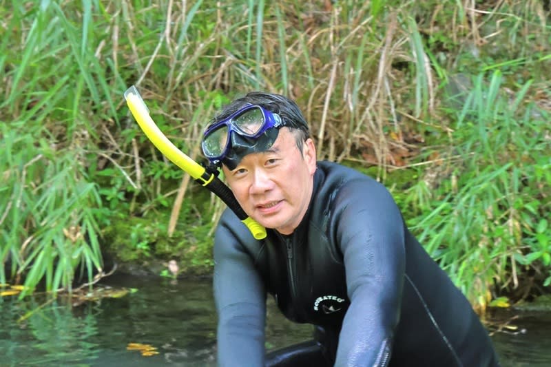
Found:
[(337, 194), (336, 240), (351, 305), (335, 366), (386, 366), (399, 320), (405, 271), (404, 224), (375, 180), (347, 182)]

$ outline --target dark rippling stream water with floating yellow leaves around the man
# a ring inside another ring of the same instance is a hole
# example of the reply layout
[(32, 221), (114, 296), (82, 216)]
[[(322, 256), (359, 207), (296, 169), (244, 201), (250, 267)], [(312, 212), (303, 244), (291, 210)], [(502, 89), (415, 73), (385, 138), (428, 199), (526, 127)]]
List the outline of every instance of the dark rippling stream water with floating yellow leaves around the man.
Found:
[[(107, 283), (136, 291), (73, 307), (0, 297), (0, 366), (216, 366), (211, 280), (118, 275)], [(551, 314), (499, 317), (517, 327), (492, 335), (503, 366), (551, 366)], [(311, 326), (287, 322), (273, 302), (267, 324), (267, 348), (311, 336)]]

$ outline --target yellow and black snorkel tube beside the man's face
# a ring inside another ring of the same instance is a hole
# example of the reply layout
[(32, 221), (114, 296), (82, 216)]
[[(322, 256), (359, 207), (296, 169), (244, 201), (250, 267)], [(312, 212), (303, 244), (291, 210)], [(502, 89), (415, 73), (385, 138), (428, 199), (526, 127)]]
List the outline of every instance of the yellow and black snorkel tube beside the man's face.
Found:
[(128, 108), (130, 112), (132, 112), (132, 116), (134, 116), (138, 125), (140, 125), (153, 145), (155, 145), (165, 157), (171, 160), (171, 162), (180, 167), (180, 169), (186, 171), (189, 176), (213, 192), (218, 198), (222, 199), (233, 213), (236, 213), (236, 216), (238, 216), (241, 222), (247, 226), (254, 238), (257, 240), (265, 238), (266, 229), (247, 216), (247, 213), (245, 213), (239, 205), (229, 187), (227, 187), (216, 174), (207, 171), (205, 167), (202, 167), (198, 162), (184, 154), (183, 151), (172, 144), (165, 134), (160, 131), (151, 116), (149, 116), (149, 109), (134, 85), (126, 90), (124, 96)]

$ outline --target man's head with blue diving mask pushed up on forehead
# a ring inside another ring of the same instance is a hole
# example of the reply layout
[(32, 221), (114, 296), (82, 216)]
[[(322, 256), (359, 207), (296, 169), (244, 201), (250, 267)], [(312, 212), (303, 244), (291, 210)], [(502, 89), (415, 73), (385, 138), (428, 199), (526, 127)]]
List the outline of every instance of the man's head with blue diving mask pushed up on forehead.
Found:
[(202, 149), (222, 165), (251, 218), (284, 234), (300, 224), (313, 189), (315, 147), (295, 102), (263, 92), (236, 99), (211, 121)]

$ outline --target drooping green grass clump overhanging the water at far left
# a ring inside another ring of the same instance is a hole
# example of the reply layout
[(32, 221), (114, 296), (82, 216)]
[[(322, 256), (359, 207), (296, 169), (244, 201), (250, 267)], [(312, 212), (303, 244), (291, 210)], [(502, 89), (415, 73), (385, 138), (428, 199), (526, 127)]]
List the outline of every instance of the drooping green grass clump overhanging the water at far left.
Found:
[(101, 198), (78, 151), (55, 151), (44, 138), (14, 125), (2, 125), (0, 283), (24, 278), (22, 295), (41, 281), (50, 291), (70, 290), (80, 264), (90, 279), (102, 272), (93, 211)]

